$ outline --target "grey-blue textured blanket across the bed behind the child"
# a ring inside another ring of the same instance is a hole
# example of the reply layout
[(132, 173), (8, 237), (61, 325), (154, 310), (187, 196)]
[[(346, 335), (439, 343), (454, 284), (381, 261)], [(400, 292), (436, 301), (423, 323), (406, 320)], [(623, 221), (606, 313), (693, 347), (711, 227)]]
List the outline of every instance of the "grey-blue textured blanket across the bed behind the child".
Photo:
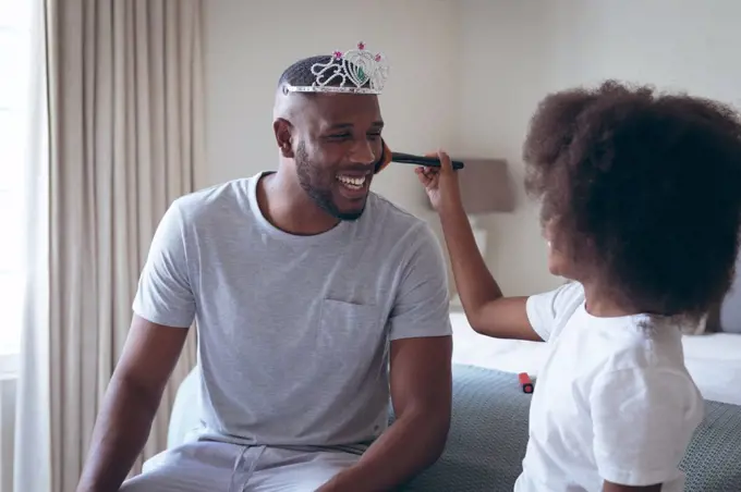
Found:
[[(522, 470), (531, 397), (514, 373), (454, 366), (446, 451), (404, 490), (511, 491)], [(741, 407), (706, 405), (705, 420), (681, 464), (688, 473), (685, 491), (741, 492)]]

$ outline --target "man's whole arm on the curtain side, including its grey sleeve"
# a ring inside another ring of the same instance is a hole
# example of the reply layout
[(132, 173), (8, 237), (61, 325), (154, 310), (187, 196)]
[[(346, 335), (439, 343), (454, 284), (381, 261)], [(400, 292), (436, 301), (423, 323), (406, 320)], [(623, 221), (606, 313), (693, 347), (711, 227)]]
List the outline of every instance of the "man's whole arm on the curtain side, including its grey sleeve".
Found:
[(183, 219), (175, 201), (149, 247), (134, 318), (98, 414), (77, 492), (119, 490), (149, 435), (195, 317)]

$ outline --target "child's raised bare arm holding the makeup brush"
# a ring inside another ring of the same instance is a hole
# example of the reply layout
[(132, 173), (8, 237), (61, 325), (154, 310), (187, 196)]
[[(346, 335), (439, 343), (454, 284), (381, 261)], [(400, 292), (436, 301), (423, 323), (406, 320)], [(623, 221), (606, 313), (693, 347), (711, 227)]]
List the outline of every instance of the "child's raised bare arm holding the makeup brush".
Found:
[(440, 168), (417, 168), (416, 172), (440, 214), (453, 278), (469, 323), (484, 335), (542, 342), (527, 318), (527, 297), (505, 297), (489, 273), (463, 210), (450, 158), (442, 151), (437, 157)]

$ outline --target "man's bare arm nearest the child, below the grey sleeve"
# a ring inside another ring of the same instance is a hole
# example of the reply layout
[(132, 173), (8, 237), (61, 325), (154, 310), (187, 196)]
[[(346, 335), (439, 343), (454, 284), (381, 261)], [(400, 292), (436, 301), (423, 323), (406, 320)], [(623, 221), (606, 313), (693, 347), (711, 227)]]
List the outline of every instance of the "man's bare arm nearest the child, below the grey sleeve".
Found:
[(437, 460), (450, 427), (451, 352), (451, 336), (391, 342), (396, 421), (320, 492), (393, 490)]

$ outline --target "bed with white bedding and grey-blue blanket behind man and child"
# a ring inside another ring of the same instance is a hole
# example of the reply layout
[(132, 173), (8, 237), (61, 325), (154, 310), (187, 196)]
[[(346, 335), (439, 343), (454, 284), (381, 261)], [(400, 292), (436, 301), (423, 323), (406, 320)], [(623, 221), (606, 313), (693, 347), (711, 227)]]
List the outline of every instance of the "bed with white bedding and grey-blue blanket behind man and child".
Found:
[[(741, 268), (729, 296), (709, 313), (702, 334), (684, 335), (684, 357), (706, 399), (705, 418), (680, 465), (685, 492), (741, 491)], [(522, 470), (531, 395), (518, 372), (537, 376), (548, 345), (478, 335), (465, 315), (453, 328), (453, 407), (444, 455), (404, 492), (511, 491)], [(537, 391), (537, 390), (536, 390)], [(168, 447), (198, 426), (198, 369), (181, 384)], [(390, 419), (393, 419), (392, 410)]]

